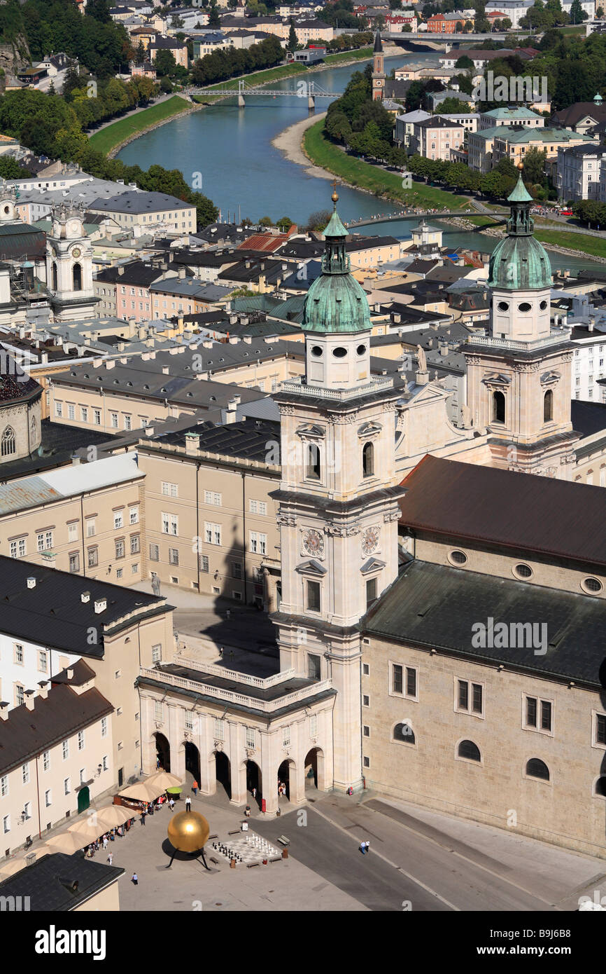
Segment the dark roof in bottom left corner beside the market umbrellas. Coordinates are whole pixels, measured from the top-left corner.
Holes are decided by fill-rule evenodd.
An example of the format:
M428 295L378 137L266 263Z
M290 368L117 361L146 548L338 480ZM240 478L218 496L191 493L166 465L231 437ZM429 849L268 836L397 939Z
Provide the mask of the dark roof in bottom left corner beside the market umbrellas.
M27 896L33 913L76 910L95 893L118 880L125 870L80 855L55 852L37 859L0 882L0 896ZM78 883L74 889L74 883Z

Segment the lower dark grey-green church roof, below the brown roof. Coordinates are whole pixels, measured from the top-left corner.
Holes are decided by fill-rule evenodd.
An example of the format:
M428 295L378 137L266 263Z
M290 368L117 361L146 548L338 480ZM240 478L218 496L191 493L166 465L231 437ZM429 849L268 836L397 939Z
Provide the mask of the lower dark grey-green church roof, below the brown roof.
M523 478L532 479L532 475ZM545 623L547 652L535 655L533 647L513 645L517 639L506 640L508 648L474 647L472 639L478 631L474 624L487 626L489 618L495 625ZM587 595L414 561L362 620L361 628L374 636L448 650L477 662L509 664L546 676L606 685L606 613L600 599ZM537 641L542 631L537 630Z

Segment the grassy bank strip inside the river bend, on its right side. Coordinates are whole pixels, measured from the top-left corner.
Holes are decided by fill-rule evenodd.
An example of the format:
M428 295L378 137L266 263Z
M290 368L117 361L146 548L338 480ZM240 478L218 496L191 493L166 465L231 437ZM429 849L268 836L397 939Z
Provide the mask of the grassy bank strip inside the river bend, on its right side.
M363 163L360 159L348 156L338 145L324 137L324 119L320 119L305 131L303 151L315 166L328 169L349 186L367 190L376 197L396 200L408 205L422 205L429 209L434 206L446 206L448 209L471 208L467 197L455 196L444 189L427 186L422 182L413 183L411 190L403 189L402 176L398 172L386 172L384 169L378 169L369 163Z

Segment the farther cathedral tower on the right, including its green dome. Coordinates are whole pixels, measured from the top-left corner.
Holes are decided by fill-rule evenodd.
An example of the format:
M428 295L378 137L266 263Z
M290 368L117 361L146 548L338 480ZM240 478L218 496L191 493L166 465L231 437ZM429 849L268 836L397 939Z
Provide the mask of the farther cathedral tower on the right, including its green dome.
M490 258L490 327L464 346L474 426L486 428L492 465L570 479L572 344L552 329L552 268L533 236L531 196L522 181L509 197L507 237Z

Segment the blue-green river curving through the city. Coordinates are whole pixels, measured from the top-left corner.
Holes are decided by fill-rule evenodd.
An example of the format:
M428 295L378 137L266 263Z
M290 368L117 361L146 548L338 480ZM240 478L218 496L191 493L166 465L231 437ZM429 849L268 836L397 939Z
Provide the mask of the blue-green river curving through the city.
M407 61L435 63L438 53L411 54L385 59L386 71ZM309 75L325 91L341 93L354 71L364 70L367 61L346 67L328 67ZM271 88L297 91L302 75L287 78ZM328 98L317 98L318 110L328 107ZM307 99L298 97L270 98L264 95L246 98L246 107L238 108L235 99L175 119L130 142L119 153L127 165L148 169L157 164L166 169L181 169L190 185L219 206L223 219L249 217L256 222L262 216L277 220L288 216L304 224L311 212L330 206L330 187L326 179L308 175L301 166L285 159L271 145L271 140L288 126L306 118ZM201 177L201 180L200 180ZM200 184L201 182L201 184ZM368 193L339 187L339 215L351 220L374 213L397 212L401 206L377 200ZM361 234L389 234L410 237L410 226L416 218L361 227ZM477 233L463 233L442 224L444 244L491 251L497 241ZM569 235L562 234L562 237ZM568 243L566 241L566 243ZM572 242L571 242L572 245ZM571 257L550 251L553 270L576 270L591 264L587 258ZM598 265L599 266L599 265Z

